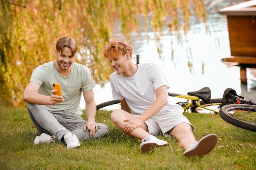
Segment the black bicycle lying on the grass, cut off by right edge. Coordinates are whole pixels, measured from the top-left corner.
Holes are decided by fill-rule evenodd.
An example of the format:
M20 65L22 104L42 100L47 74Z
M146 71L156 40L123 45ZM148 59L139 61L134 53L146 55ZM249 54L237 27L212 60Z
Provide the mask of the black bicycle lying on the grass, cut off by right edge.
M239 128L256 132L256 102L252 100L245 100L234 89L227 88L222 97L220 117Z

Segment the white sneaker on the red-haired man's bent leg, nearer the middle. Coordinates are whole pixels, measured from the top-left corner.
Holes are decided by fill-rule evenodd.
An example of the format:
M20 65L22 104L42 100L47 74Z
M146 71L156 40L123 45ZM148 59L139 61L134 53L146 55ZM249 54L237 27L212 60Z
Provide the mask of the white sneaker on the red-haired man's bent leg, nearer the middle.
M141 141L142 141L142 143L139 145L139 148L143 152L147 152L148 150L157 148L159 146L169 145L168 142L162 141L153 135L149 135L149 136L145 137L144 139L142 139Z

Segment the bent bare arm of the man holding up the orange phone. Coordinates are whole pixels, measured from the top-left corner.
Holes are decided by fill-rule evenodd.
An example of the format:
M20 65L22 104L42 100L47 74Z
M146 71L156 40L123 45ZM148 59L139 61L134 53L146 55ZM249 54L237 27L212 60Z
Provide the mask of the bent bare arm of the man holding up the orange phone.
M45 96L38 93L39 88L40 85L38 83L29 82L23 92L22 100L38 105L55 105L64 101L62 96L54 95L54 92L57 92L57 90L52 90L51 96Z

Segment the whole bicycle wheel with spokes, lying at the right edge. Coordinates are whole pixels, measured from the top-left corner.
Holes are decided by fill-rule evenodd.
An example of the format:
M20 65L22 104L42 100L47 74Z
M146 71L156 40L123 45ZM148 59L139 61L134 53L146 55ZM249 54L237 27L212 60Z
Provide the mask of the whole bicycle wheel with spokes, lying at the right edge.
M256 132L256 105L224 105L220 108L220 117L239 128Z

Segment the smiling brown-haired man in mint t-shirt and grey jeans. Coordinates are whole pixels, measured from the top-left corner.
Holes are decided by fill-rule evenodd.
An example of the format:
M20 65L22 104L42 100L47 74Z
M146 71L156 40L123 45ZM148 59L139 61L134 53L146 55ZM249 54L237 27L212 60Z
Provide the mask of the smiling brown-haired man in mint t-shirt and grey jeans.
M95 122L95 87L88 67L73 63L78 45L74 38L62 37L56 43L56 60L36 67L22 99L27 101L31 121L40 136L34 144L57 139L67 148L80 146L79 140L106 136L108 127ZM61 85L62 96L54 95L53 83ZM85 99L87 121L81 118L81 95ZM52 135L52 136L50 136Z

